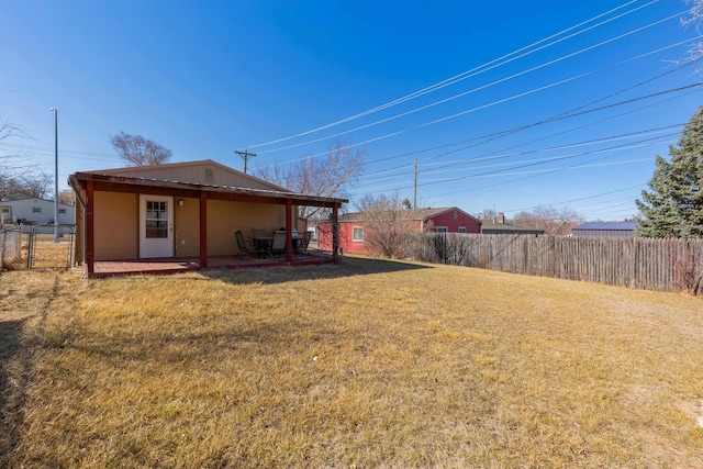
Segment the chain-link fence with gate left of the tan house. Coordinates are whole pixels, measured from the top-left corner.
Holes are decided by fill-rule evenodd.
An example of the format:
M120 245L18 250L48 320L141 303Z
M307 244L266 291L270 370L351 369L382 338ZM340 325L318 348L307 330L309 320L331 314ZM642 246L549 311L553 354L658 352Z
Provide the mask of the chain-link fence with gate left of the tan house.
M0 230L0 269L74 266L75 225L12 226Z

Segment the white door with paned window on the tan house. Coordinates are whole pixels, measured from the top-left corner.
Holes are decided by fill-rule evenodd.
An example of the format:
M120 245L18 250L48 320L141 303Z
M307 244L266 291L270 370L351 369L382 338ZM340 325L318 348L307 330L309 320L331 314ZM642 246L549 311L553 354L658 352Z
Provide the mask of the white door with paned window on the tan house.
M174 198L140 196L140 257L174 257Z

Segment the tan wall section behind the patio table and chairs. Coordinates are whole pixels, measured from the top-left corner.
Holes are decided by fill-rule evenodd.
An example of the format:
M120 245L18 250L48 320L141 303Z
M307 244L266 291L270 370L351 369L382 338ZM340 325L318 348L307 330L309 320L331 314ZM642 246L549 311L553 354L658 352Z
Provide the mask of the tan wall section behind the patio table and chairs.
M286 206L267 203L208 201L208 255L225 256L237 253L234 232L241 230L244 238L252 230L261 228L271 235L286 226Z

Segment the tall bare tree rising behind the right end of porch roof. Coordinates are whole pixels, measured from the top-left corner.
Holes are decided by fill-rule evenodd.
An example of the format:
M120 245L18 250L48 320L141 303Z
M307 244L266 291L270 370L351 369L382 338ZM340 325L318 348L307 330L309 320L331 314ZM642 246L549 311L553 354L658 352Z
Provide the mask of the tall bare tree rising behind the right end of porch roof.
M339 197L356 179L366 150L353 150L344 141L335 141L323 156L308 156L290 164L257 168L254 175L297 193L317 197ZM311 217L319 206L299 206L298 215Z

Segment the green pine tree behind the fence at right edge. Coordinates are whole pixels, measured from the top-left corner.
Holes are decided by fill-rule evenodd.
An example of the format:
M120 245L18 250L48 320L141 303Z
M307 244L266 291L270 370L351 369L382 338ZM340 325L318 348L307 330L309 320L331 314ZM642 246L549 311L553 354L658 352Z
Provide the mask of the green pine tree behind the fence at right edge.
M657 155L650 190L641 191L637 234L643 237L703 237L703 107L683 129L671 161Z

